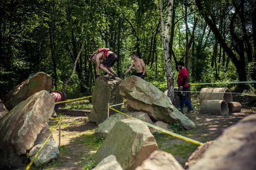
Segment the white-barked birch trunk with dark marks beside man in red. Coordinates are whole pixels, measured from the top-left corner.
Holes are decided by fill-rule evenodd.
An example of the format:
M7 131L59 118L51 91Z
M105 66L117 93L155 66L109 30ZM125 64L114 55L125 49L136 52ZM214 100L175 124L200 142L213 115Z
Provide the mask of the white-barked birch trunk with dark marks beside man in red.
M169 53L169 29L170 29L170 23L171 23L171 17L172 17L173 0L168 0L167 16L165 17L165 19L163 17L161 0L158 0L158 9L159 9L160 22L161 22L163 55L164 55L165 66L166 66L166 78L167 78L167 87L168 87L167 95L171 99L172 104L175 105L174 74L171 68L171 59L170 59L170 53Z

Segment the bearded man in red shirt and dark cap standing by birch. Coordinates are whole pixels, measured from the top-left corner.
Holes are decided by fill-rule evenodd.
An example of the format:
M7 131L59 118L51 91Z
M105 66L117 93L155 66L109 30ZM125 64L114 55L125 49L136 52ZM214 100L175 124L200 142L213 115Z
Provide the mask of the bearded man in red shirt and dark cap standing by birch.
M188 113L192 113L194 110L191 106L191 103L189 102L187 98L187 91L188 91L188 71L185 68L185 64L183 61L178 62L178 68L180 69L177 83L179 87L179 106L180 106L180 112L183 113L183 105L184 102L188 105L190 111Z

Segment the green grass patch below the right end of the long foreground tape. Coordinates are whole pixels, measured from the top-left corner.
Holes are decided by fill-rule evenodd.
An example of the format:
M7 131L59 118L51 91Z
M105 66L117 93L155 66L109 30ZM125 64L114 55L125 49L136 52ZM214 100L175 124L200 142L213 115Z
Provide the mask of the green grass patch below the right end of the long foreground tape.
M173 156L180 156L187 158L190 154L196 150L199 145L186 143L186 144L173 144L172 146L162 149L162 151L171 153Z

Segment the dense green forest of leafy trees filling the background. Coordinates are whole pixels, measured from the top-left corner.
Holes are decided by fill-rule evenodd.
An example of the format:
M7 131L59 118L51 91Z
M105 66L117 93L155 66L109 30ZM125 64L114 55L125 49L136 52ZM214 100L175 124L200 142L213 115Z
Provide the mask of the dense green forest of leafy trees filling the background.
M67 96L91 95L97 69L89 56L102 47L118 56L113 69L119 76L135 52L146 64L145 80L157 87L168 84L168 64L176 85L180 60L192 83L256 80L256 0L173 0L171 8L170 2L1 0L0 99L36 72L49 74L52 90L61 91L78 57L76 72L65 86ZM128 75L135 72L133 68ZM256 89L255 83L191 89L218 86L233 92Z

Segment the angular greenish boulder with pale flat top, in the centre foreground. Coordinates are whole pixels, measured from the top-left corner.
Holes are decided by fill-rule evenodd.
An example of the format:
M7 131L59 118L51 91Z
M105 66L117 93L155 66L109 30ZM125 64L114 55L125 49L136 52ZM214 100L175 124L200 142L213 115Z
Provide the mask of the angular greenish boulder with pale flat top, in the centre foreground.
M134 170L150 153L158 150L149 127L137 119L123 119L115 123L94 156L98 164L105 157L115 155L124 170Z

